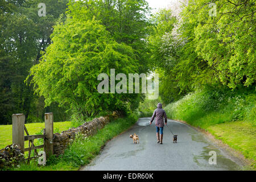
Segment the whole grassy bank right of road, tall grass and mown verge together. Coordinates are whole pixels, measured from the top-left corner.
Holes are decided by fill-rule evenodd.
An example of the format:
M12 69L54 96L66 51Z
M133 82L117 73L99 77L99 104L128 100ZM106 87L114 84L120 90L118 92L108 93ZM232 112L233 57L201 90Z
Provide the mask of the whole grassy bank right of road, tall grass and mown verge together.
M164 109L168 118L186 121L221 139L253 160L256 168L256 95L254 90L199 90Z

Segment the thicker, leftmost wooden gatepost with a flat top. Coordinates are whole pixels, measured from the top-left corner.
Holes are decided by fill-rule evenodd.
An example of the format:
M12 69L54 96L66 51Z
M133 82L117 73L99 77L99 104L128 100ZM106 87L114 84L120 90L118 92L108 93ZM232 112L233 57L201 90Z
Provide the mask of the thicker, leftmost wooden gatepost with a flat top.
M13 114L13 143L20 146L20 150L24 154L24 114Z

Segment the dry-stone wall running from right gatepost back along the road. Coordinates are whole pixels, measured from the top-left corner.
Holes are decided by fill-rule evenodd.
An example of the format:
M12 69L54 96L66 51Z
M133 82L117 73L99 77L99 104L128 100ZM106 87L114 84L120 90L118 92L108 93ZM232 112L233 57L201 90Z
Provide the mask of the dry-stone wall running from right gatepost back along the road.
M83 125L72 128L67 131L54 134L53 138L53 154L59 156L63 154L64 150L67 148L71 139L76 137L77 133L84 134L85 137L92 136L97 133L98 130L102 129L106 124L110 122L110 118L116 119L119 117L119 113L114 111L113 114L106 117L95 118L90 122L85 122Z

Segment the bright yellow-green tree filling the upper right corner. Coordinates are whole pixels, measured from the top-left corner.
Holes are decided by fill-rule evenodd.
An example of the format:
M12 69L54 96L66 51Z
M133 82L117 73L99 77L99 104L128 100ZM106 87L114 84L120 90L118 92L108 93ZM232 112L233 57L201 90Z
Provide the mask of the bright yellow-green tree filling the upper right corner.
M255 83L255 2L214 1L216 16L210 16L210 2L189 1L183 12L183 30L194 30L197 56L207 61L212 81L229 88ZM191 39L191 35L184 36ZM205 77L208 78L208 77Z

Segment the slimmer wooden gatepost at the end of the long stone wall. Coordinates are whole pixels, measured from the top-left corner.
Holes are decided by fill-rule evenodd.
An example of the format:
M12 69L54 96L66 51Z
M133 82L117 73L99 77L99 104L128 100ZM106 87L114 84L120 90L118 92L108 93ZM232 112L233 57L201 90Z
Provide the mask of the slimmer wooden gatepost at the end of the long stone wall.
M46 126L46 144L44 145L44 151L48 158L53 155L53 114L45 113L44 122Z

